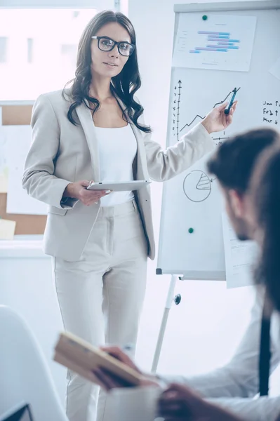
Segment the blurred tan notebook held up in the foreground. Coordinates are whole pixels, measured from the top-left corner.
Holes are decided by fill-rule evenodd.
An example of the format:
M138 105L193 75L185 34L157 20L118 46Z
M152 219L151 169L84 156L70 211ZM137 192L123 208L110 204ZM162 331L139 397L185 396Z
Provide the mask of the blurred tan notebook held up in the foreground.
M98 367L105 368L132 386L140 385L142 380L138 371L69 332L60 334L54 360L92 382L96 382L93 370Z

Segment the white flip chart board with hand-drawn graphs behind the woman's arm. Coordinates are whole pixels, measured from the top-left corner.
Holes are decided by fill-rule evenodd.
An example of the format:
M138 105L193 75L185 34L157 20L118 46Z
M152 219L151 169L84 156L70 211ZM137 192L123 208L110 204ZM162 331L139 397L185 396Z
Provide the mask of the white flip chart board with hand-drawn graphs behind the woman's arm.
M178 64L175 60L178 42L181 42L181 50L185 48L178 30L183 34L183 30L189 29L182 27L189 17L197 21L197 17L201 19L203 15L208 19L228 15L236 17L234 20L238 22L238 17L247 16L255 17L256 25L248 71L220 70L215 66L213 69L173 66L167 146L175 145L235 87L241 89L236 95L239 104L234 123L226 131L213 133L217 147L219 142L241 131L260 126L277 129L278 123L280 126L279 8L279 0L175 6L173 64ZM244 25L244 20L242 22ZM206 171L209 156L164 183L157 274L225 280L224 204L217 180ZM194 231L189 233L189 228Z

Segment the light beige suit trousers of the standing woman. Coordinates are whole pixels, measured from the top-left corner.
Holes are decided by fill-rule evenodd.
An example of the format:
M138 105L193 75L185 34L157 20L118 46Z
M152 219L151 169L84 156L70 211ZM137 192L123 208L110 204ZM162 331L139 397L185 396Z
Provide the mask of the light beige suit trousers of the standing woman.
M135 345L145 297L147 240L134 200L100 208L79 261L53 258L53 271L65 330L97 346ZM105 393L100 391L98 403L98 391L68 370L70 421L112 421L106 419Z

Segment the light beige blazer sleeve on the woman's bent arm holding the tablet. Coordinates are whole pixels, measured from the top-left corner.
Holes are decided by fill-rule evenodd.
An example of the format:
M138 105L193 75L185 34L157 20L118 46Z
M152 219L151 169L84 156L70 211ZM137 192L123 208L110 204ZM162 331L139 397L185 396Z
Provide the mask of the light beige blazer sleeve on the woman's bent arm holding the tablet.
M68 180L57 178L55 159L60 145L58 119L46 95L40 95L32 110L32 145L25 161L22 187L27 193L57 208L72 208L75 199L62 202Z

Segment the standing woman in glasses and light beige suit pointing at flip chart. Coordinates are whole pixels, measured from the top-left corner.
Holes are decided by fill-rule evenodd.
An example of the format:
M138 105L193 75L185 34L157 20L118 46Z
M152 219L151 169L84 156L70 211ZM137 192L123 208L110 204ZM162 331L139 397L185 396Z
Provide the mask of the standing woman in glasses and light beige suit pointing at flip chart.
M90 180L168 180L213 149L209 133L224 130L235 108L213 109L164 151L142 119L138 88L133 25L105 11L84 29L72 86L40 95L32 113L22 184L49 205L44 251L65 329L93 345L135 344L154 234L149 187L107 194L86 190ZM97 390L67 378L69 420L94 420Z

